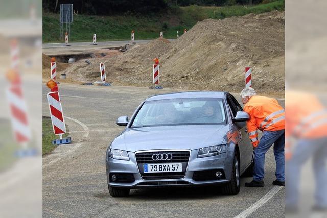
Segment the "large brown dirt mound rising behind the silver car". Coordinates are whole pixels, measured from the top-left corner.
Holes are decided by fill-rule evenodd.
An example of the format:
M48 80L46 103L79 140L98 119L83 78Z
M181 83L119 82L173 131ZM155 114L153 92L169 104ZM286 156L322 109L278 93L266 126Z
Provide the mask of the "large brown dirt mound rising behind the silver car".
M123 55L78 62L66 70L78 81L100 80L99 62L115 85L149 86L153 58L160 60L160 85L196 90L239 92L245 66L252 67L252 86L259 93L284 92L285 14L273 11L198 22L169 43L156 39L134 45Z

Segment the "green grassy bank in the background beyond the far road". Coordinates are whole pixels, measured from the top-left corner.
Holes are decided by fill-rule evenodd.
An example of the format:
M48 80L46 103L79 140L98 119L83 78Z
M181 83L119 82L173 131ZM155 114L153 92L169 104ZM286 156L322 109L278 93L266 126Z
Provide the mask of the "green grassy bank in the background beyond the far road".
M252 6L172 7L167 13L148 16L116 15L86 16L74 15L71 25L70 42L92 41L94 33L97 41L130 40L131 30L135 30L135 40L154 39L160 31L165 38L177 38L176 31L182 35L184 29L192 28L203 19L223 19L231 16L243 16L249 13L263 13L272 10L284 11L284 0ZM59 38L59 14L43 13L43 42L64 42Z

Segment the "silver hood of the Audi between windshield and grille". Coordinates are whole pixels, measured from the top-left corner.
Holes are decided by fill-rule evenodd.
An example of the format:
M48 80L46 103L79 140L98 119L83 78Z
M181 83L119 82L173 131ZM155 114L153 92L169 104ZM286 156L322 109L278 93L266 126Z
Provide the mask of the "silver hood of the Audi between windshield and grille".
M130 152L153 149L199 149L221 144L228 125L188 125L126 129L111 143L112 149Z

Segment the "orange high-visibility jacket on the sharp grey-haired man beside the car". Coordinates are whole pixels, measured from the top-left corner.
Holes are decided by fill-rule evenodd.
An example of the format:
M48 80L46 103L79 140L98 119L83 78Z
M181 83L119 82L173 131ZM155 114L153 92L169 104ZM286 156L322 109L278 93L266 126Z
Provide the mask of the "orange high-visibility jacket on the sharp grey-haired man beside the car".
M244 111L250 115L246 125L253 147L259 143L258 129L262 132L285 129L285 111L275 99L254 95L244 105Z

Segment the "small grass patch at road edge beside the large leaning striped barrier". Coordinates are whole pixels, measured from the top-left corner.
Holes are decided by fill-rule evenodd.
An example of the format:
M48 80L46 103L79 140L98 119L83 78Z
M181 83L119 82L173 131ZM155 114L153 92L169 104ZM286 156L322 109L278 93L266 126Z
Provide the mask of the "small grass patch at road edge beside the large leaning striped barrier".
M42 154L49 154L57 146L52 144L52 141L59 138L59 136L53 133L51 118L49 116L42 116ZM66 132L68 132L68 127L66 125ZM67 137L69 134L63 134L63 138Z

